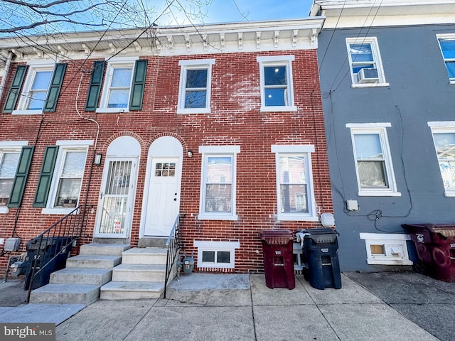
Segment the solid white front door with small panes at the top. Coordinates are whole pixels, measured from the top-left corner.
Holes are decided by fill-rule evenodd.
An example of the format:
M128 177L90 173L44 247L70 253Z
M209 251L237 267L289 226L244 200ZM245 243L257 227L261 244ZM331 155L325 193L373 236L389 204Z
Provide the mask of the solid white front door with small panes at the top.
M178 158L154 158L146 206L145 237L168 237L178 215Z

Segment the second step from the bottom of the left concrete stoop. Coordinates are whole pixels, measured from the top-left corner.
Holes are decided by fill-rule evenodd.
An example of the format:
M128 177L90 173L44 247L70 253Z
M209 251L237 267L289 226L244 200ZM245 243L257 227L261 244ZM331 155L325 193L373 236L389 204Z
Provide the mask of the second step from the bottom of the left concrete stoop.
M50 274L50 283L95 284L102 286L112 278L111 269L65 268Z

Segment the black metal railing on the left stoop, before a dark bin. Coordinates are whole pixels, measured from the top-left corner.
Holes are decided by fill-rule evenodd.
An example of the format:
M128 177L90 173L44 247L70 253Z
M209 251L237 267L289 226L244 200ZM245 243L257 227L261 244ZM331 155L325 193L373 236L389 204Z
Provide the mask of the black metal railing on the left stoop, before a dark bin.
M38 237L27 242L27 251L34 250L33 259L28 259L30 265L25 286L25 289L28 289L27 302L30 301L33 280L38 274L41 274L59 255L68 254L68 249L70 251L73 243L82 237L87 223L85 220L87 208L87 205L76 207Z

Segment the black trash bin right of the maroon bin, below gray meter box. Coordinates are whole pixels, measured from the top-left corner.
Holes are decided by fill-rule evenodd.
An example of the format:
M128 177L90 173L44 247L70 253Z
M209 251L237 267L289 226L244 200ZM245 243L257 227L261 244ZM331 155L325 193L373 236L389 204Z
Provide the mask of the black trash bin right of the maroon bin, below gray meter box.
M341 288L338 232L331 228L304 229L305 279L313 288Z

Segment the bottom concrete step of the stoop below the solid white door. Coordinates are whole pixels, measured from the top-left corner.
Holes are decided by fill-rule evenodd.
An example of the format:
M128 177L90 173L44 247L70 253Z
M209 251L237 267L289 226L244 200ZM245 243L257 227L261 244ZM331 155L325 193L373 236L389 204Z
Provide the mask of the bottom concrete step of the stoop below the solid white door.
M102 300L139 300L160 298L164 292L164 282L112 281L101 287Z

